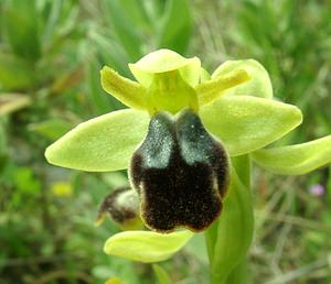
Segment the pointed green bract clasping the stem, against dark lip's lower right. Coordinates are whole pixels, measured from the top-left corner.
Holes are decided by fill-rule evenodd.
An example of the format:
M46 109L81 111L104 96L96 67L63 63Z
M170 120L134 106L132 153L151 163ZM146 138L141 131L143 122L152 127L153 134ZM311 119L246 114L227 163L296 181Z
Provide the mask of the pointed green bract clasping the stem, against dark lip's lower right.
M253 238L254 217L250 192L233 170L229 194L217 221L218 233L212 258L212 284L223 284L246 256Z

